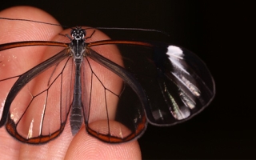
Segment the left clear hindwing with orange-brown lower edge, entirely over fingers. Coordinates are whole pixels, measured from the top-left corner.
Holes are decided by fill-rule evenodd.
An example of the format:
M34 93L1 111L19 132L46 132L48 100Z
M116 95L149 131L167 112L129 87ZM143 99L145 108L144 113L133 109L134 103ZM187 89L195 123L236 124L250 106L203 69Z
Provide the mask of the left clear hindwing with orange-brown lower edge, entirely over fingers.
M24 47L19 50L22 48ZM49 52L52 51L56 53L57 50L50 48ZM66 52L62 48L59 57L65 58ZM45 53L47 55L48 51ZM5 107L10 106L6 129L22 142L42 143L56 137L63 130L70 110L73 96L70 94L73 92L73 59L67 57L48 67L44 66L44 59L42 58L38 66L19 76L12 89L9 88L9 97L6 98ZM34 76L36 72L41 73ZM1 82L10 80L12 79ZM14 97L11 102L10 97ZM54 134L55 132L58 134Z

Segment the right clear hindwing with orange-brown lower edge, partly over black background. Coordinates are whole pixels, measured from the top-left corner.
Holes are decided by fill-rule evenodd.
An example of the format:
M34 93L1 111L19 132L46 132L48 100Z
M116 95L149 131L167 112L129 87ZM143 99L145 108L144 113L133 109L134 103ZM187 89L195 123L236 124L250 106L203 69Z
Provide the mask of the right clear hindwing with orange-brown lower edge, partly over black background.
M88 48L86 55L82 66L86 130L104 142L138 138L147 124L142 87L122 67L116 46Z

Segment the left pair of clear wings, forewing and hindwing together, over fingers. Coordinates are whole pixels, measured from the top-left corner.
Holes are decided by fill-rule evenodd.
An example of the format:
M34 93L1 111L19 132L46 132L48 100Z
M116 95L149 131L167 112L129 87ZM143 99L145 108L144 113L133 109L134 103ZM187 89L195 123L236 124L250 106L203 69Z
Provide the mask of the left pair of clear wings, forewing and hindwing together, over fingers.
M73 96L74 72L67 49L43 48L44 56L62 51L53 57L48 54L31 60L30 55L37 54L33 47L1 52L1 126L6 124L6 130L19 141L38 144L56 138L64 129ZM26 62L20 66L22 60Z

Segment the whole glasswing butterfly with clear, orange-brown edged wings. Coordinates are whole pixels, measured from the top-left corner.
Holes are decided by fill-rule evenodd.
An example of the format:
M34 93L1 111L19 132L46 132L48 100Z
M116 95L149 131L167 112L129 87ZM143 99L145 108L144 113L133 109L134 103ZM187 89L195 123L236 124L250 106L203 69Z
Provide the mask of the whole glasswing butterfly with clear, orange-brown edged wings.
M82 125L103 142L127 142L139 138L147 122L184 122L214 98L210 71L189 50L126 39L90 42L94 34L95 28L76 27L62 35L70 42L0 44L0 127L33 144L50 142L65 126L74 135ZM43 46L49 57L20 66L19 58L30 61L35 46Z

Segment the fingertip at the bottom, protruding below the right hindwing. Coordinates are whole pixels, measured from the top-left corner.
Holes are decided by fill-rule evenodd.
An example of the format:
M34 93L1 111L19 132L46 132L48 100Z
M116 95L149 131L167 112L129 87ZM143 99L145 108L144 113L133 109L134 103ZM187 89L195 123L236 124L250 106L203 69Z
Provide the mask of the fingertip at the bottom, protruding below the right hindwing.
M66 159L141 159L137 141L124 143L101 142L80 130L70 143Z

